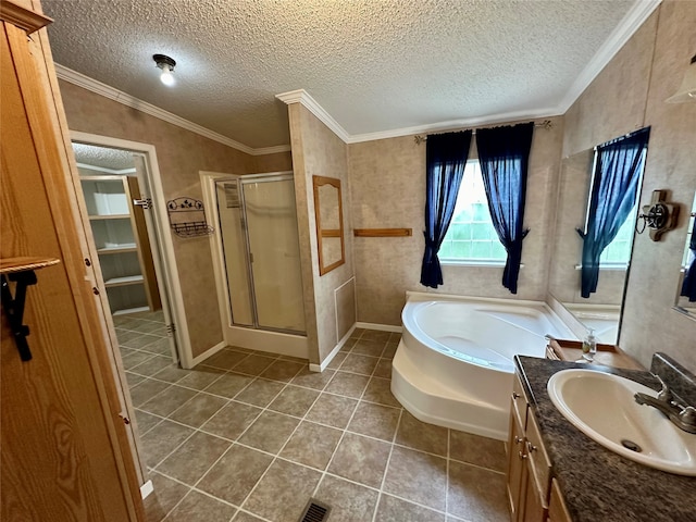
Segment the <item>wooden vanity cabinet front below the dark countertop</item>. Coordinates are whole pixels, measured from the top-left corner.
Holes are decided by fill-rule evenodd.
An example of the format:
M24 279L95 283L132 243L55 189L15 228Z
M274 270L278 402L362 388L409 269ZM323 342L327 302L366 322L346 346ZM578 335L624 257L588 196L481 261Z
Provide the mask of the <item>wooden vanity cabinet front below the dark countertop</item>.
M549 508L551 463L515 374L510 408L507 492L512 522L544 522Z

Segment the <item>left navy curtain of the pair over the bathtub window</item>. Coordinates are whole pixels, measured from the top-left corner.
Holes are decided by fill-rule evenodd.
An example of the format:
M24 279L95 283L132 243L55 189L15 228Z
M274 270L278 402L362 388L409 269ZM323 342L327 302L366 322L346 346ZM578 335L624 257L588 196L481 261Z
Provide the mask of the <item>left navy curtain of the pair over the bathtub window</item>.
M464 174L471 130L433 134L425 146L425 252L421 285L437 288L443 271L437 252L455 213L457 194Z

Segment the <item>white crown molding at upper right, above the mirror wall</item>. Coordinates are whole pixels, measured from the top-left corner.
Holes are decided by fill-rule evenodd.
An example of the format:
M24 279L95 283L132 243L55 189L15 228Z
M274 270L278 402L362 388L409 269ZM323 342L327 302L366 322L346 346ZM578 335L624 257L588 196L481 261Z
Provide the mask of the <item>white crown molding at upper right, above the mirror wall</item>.
M621 23L611 32L589 63L575 78L573 85L568 89L568 92L558 104L559 113L564 114L571 108L660 3L662 3L662 0L635 1Z

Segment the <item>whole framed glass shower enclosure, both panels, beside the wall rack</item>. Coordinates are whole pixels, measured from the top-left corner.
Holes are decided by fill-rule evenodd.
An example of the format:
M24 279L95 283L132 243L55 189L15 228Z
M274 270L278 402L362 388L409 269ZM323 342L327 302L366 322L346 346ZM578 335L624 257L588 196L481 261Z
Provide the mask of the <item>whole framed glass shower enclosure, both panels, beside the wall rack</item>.
M217 177L214 187L232 326L304 334L293 174Z

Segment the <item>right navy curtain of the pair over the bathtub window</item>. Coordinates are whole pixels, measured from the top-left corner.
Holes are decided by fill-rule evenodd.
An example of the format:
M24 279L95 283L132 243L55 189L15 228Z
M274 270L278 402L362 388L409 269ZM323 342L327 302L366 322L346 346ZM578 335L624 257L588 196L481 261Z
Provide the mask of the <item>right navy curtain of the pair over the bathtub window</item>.
M493 226L508 252L502 286L512 294L518 293L522 240L530 232L523 228L523 221L533 134L534 123L476 130L478 163Z

